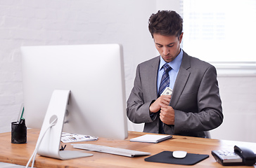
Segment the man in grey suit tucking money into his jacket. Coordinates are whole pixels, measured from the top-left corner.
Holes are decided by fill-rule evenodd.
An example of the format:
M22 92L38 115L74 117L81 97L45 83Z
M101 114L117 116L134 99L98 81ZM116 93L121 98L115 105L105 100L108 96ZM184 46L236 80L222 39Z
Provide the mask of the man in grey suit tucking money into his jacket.
M205 131L223 121L217 72L180 48L182 25L174 11L158 11L149 18L160 56L137 66L127 116L133 123L145 123L143 132L205 137ZM165 87L172 95L160 95Z

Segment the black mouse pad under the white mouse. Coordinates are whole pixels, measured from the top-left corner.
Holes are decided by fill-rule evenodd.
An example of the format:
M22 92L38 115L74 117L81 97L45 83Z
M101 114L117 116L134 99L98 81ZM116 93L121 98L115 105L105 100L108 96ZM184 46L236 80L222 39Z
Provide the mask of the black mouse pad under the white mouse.
M209 158L209 155L187 153L185 158L177 159L172 156L171 151L162 151L161 153L145 158L145 161L170 163L175 165L195 165L206 158Z

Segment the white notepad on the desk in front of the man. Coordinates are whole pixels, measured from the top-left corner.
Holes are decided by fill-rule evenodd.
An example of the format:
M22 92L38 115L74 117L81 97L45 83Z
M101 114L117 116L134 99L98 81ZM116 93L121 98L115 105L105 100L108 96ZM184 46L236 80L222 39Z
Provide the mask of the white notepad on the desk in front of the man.
M140 137L130 139L130 141L158 143L160 141L165 141L166 139L171 139L171 138L172 138L172 135L145 134Z

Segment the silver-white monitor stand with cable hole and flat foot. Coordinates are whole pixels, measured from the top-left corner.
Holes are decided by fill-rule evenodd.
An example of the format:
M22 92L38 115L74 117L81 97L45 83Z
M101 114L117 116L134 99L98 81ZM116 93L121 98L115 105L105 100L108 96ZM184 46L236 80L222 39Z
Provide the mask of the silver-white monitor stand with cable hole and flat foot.
M41 132L37 140L37 146L39 146L37 154L60 160L82 158L92 155L79 151L60 151L60 138L69 97L70 90L53 91L44 123L41 126ZM56 120L54 122L56 124L51 126L54 120Z

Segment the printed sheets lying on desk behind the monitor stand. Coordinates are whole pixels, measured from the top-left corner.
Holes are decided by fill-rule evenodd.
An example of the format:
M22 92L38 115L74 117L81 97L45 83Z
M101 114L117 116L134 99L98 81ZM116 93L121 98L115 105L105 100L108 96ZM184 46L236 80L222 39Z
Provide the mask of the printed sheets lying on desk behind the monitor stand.
M82 134L70 134L63 132L61 134L61 139L63 143L69 143L69 142L78 142L78 141L96 141L98 140L98 137L92 137L90 135L82 135Z

